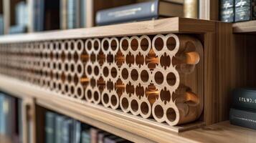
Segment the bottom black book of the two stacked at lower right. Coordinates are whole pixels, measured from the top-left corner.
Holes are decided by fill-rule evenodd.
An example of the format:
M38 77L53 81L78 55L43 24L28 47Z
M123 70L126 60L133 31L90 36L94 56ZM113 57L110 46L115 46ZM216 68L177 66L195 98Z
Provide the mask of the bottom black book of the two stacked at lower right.
M232 108L229 112L229 121L234 125L256 129L256 112Z

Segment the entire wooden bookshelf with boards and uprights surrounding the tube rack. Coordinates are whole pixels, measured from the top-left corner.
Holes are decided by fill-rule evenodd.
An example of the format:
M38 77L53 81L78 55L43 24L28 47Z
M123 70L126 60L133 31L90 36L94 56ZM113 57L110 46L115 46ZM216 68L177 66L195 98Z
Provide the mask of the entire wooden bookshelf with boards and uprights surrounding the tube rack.
M29 13L32 11L32 2L32 0L27 0ZM111 1L111 5L120 6L134 2L136 1L122 1L122 4L115 3L115 5ZM22 109L27 115L23 123L24 142L29 140L42 142L39 139L43 128L40 123L44 120L40 114L41 108L65 114L131 142L254 142L255 132L252 129L230 125L226 120L229 115L230 90L234 87L255 86L256 67L250 64L250 61L255 61L255 56L253 56L255 53L253 49L255 21L236 24L210 21L218 19L218 2L207 0L199 1L199 3L199 17L207 20L174 17L91 27L95 26L93 23L95 11L108 8L108 6L102 1L88 0L87 6L90 12L87 13L87 18L90 23L88 27L91 28L34 32L33 19L29 16L28 34L1 36L1 44L12 46L26 43L37 44L42 41L102 40L106 37L121 39L124 36L153 37L157 34L177 34L198 39L204 49L203 74L200 74L202 77L196 77L203 80L203 84L198 86L202 87L204 93L203 112L194 122L176 126L156 122L153 117L143 119L141 116L124 113L121 109L110 109L110 107L103 107L102 104L88 103L69 97L67 94L55 92L53 89L40 87L33 82L1 74L1 91L23 99ZM0 6L3 7L2 11L7 19L10 11L5 6L11 4L7 0L3 0L3 4L4 6ZM11 20L5 21L5 29L8 33ZM27 124L31 125L29 129ZM6 142L9 142L8 138L0 136L0 141L2 139L7 139Z

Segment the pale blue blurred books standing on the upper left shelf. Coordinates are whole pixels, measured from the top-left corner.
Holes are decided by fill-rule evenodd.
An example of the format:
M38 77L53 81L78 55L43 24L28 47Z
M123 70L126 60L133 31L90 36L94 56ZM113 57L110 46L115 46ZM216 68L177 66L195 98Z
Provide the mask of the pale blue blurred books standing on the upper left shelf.
M19 34L27 31L28 9L25 1L20 1L16 4L15 21L16 24L10 27L9 34Z

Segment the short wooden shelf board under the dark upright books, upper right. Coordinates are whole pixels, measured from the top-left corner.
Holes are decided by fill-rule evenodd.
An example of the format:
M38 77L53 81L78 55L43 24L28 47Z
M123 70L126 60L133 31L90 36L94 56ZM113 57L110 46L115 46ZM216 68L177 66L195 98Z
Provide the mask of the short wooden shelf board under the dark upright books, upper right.
M238 22L232 25L234 33L256 34L256 20Z

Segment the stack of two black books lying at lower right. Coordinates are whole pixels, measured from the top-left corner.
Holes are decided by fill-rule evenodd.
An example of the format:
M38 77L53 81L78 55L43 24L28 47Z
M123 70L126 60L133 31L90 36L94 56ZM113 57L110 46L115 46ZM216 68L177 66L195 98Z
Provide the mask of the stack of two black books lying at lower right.
M234 89L232 98L230 123L256 129L256 89Z

